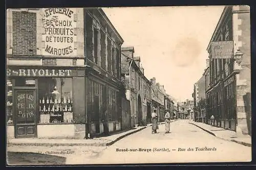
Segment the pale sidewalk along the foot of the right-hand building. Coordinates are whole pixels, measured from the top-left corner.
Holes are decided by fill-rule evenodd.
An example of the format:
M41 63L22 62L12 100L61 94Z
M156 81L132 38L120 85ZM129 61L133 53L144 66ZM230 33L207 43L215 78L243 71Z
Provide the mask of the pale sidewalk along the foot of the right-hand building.
M214 127L200 122L191 121L189 124L195 125L202 130L208 132L209 134L219 137L221 139L237 142L239 144L251 147L251 137L249 135L237 136L236 132L234 131Z

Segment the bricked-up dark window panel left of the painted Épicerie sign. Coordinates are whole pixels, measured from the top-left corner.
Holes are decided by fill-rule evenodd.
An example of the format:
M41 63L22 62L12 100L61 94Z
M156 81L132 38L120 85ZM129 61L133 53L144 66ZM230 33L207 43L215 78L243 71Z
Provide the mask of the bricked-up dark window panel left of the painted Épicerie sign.
M13 55L36 55L36 13L12 12Z

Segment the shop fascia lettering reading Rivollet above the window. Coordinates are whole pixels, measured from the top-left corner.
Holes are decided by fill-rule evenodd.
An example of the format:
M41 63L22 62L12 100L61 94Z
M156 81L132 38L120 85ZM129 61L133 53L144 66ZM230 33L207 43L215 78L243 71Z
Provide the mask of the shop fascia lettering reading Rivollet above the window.
M71 69L7 69L7 76L72 77Z

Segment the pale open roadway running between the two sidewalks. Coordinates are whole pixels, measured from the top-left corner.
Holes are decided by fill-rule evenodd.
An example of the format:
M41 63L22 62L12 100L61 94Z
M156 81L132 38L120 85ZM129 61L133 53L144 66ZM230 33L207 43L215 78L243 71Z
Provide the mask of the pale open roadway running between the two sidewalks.
M234 162L251 160L251 147L212 136L189 124L189 120L178 120L171 123L171 133L169 134L164 133L164 128L164 124L159 125L157 134L151 134L151 127L146 128L117 141L110 147L47 148L13 146L9 147L8 151L37 153L40 151L69 151L69 154L56 154L55 156L61 156L59 159L49 157L53 161L52 163L48 161L47 164L54 164L54 160L58 164ZM66 157L65 161L63 161L63 157ZM13 156L9 163L26 163L24 160L15 161L14 159ZM58 160L62 160L62 162ZM33 163L30 160L26 164ZM37 164L40 164L40 160L37 160Z

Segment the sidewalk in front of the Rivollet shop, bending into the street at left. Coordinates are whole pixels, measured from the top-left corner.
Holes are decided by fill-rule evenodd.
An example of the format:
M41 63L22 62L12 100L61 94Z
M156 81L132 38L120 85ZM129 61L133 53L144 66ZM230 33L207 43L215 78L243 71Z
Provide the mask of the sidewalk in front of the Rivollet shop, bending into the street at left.
M125 136L131 135L148 126L134 128L122 133L113 134L94 139L38 139L38 138L13 138L8 140L8 147L12 145L27 145L27 146L106 146L115 143Z

